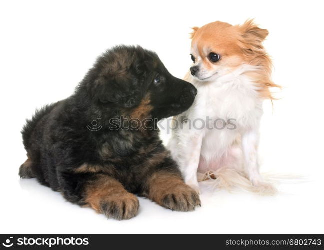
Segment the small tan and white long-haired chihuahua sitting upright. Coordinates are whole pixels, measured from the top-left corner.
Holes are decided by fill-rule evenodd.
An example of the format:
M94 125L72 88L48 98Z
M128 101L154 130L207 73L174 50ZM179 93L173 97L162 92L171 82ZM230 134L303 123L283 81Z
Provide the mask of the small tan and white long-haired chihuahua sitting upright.
M262 179L257 159L262 102L273 99L270 87L278 87L271 81L271 60L262 45L267 35L251 20L236 26L216 21L193 28L194 65L185 80L196 86L198 95L175 120L202 119L205 126L196 129L184 123L173 132L168 148L185 182L196 190L198 170L199 180L214 179L216 187L275 191ZM222 129L215 129L217 119L225 122L216 126Z

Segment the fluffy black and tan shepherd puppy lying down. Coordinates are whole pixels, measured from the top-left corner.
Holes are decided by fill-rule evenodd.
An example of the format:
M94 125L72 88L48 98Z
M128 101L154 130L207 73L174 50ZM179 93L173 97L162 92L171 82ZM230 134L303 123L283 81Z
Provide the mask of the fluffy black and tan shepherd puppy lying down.
M27 121L28 159L19 175L115 219L137 214L134 193L172 210L194 210L199 196L184 184L156 122L188 109L196 93L154 52L115 47L97 59L73 95Z

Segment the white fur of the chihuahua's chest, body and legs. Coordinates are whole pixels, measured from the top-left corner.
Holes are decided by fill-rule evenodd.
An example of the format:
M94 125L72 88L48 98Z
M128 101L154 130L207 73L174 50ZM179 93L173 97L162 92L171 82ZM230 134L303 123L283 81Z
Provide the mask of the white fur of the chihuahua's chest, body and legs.
M193 105L185 113L174 117L179 123L181 116L191 120L234 119L236 129L227 124L224 129L189 127L184 122L173 131L168 149L180 166L185 182L199 191L199 180L210 182L216 188L241 187L258 193L274 193L275 188L263 180L259 173L257 147L259 124L263 113L262 99L257 85L245 73L258 70L251 65L241 65L235 71L210 81L200 81L187 74L185 80L198 89ZM213 122L211 122L212 124ZM209 126L210 128L210 126Z

